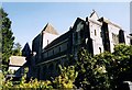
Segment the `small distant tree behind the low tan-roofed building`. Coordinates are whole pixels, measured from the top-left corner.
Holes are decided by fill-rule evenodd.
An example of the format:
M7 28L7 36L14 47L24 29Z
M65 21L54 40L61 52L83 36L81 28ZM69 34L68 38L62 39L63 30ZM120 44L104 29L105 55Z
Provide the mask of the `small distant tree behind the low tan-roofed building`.
M20 43L15 43L13 45L12 55L21 56L22 55L21 48L22 48L21 44Z

